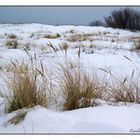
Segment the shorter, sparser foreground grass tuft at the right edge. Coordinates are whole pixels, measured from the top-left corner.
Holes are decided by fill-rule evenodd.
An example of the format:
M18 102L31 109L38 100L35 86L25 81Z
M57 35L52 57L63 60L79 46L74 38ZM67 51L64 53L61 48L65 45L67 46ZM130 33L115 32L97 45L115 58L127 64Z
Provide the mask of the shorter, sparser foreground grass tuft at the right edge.
M127 79L116 81L110 86L112 99L115 102L135 102L140 103L140 84L139 80Z

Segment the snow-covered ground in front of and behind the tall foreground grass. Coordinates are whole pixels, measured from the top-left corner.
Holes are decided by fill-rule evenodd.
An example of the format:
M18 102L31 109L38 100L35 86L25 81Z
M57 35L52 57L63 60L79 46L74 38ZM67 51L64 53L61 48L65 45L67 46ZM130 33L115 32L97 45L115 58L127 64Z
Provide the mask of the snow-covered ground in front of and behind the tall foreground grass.
M10 35L16 35L16 38ZM49 35L49 37L48 37ZM51 37L50 37L51 36ZM16 49L6 46L7 41L17 40ZM110 70L116 76L139 73L140 53L132 51L140 41L140 32L88 26L51 26L42 24L0 25L0 66L11 60L29 61L28 53L34 55L47 67L53 69L54 60L66 58L80 63L90 74ZM48 44L57 49L57 55ZM59 45L68 44L67 56ZM128 59L127 59L128 58ZM3 74L3 71L0 71ZM1 76L2 77L2 76ZM3 81L0 78L1 90ZM25 119L17 125L7 124L18 111L4 113L4 99L0 97L0 133L132 133L140 129L140 105L135 103L113 104L99 100L95 107L61 111L50 105L28 109ZM20 110L19 110L20 111ZM140 131L139 131L140 133Z

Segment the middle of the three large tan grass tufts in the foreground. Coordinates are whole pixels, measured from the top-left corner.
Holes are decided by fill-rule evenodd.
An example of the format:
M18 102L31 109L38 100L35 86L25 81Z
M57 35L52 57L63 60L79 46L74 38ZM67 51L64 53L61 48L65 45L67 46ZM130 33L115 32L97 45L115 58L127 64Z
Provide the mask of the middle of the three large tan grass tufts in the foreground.
M64 97L64 110L73 110L94 105L94 100L101 97L103 87L98 77L91 78L81 68L71 68L71 63L60 66L61 95Z

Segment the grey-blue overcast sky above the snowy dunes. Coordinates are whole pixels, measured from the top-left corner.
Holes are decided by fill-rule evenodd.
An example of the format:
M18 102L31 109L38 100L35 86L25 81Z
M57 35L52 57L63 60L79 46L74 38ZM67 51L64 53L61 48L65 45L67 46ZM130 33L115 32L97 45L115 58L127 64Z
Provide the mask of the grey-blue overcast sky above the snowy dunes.
M123 8L123 7L121 7ZM140 11L140 7L132 7ZM120 7L0 7L0 23L88 25Z

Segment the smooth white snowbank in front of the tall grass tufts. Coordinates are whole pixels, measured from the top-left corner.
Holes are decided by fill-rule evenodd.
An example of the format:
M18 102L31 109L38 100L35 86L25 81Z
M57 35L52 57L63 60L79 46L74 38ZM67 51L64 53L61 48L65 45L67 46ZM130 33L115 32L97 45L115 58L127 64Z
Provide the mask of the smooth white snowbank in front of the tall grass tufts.
M54 112L36 106L18 125L1 127L1 133L130 133L140 126L140 106L101 105ZM9 115L10 116L10 115ZM7 118L9 117L7 116ZM0 122L5 117L1 117Z

